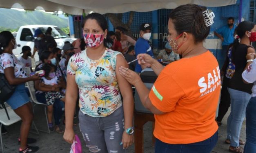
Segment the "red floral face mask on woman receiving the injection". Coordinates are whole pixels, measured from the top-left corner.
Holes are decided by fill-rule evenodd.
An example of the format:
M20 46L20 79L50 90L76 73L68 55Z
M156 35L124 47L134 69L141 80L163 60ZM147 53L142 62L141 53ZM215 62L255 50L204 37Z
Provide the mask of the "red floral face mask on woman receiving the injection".
M100 46L100 44L103 42L103 39L104 39L103 35L104 33L102 34L83 33L86 46L91 48Z

